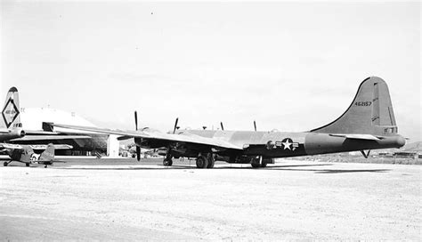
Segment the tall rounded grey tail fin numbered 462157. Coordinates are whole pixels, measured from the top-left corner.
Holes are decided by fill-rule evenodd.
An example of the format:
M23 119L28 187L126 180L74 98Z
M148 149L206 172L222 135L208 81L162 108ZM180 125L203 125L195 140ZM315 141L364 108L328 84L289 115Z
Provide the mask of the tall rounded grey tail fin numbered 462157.
M396 134L397 125L385 81L379 77L368 77L363 80L345 113L328 125L313 129L311 132Z

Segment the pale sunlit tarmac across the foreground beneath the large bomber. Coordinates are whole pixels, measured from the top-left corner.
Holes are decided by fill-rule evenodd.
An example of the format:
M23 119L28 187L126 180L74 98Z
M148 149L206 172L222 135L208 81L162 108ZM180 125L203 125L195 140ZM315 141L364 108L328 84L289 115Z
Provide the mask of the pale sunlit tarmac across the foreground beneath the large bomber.
M59 160L0 167L0 239L422 238L420 165Z

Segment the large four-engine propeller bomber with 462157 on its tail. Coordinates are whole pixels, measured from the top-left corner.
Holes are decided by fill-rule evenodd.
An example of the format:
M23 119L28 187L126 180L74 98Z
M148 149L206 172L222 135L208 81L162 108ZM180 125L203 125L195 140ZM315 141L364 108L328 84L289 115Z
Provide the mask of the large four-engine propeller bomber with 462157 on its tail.
M353 102L345 113L328 125L301 133L177 130L160 133L150 128L120 131L75 125L53 126L98 133L122 135L121 140L134 138L140 148L166 147L164 165L173 165L173 157L196 157L198 168L212 168L215 155L229 163L250 163L265 167L274 157L297 157L365 149L400 148L405 139L398 134L390 93L385 81L368 77L358 88ZM176 132L177 130L177 132Z

